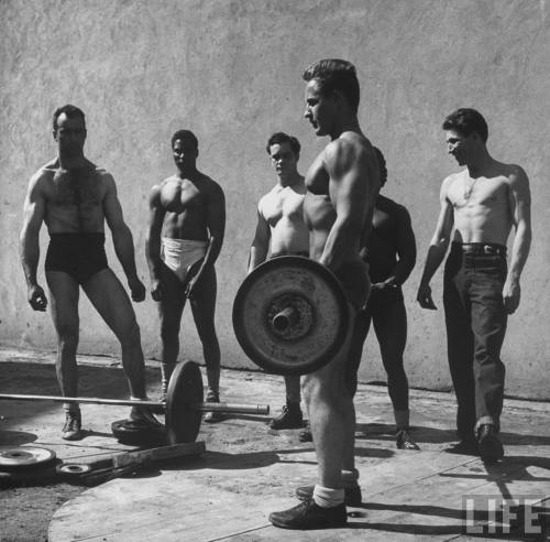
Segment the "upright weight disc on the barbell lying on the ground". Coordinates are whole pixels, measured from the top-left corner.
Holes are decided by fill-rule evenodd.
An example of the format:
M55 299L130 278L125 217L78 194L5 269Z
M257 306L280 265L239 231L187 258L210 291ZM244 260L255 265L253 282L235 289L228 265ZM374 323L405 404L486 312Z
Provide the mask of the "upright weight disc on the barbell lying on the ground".
M195 361L178 364L166 393L166 431L169 444L195 442L202 413L193 405L202 402L202 377Z

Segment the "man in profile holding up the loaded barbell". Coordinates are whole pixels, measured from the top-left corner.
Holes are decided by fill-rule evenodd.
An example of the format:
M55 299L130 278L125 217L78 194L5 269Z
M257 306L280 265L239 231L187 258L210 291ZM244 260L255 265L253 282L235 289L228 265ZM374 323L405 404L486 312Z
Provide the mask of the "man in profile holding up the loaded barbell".
M340 59L319 61L306 69L304 79L305 117L317 136L331 139L306 175L304 215L309 253L340 280L351 322L345 344L334 359L304 377L318 483L297 489L298 497L305 499L298 506L270 516L274 525L286 529L345 525L344 498L345 502L361 502L354 467L355 411L344 375L356 340L352 333L355 315L370 292L367 269L359 251L371 228L380 188L376 156L358 121L360 93L354 66Z

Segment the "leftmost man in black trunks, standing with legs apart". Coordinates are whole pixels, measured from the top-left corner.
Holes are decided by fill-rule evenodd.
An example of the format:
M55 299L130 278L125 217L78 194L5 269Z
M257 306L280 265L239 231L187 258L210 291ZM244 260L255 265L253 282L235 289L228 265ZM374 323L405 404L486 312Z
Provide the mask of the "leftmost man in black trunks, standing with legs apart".
M132 399L146 399L145 366L140 328L124 288L107 265L103 249L105 221L111 229L117 257L135 302L145 299L138 278L132 234L124 223L112 175L84 155L86 122L75 106L54 112L53 134L57 158L31 178L24 204L20 237L21 262L26 279L29 303L45 311L44 290L36 280L42 223L50 234L45 272L52 300L52 318L57 334L56 371L62 393L78 395L79 286L122 346L122 367ZM64 403L66 423L62 437L81 438L81 416L77 403ZM132 408L130 418L157 425L147 409Z

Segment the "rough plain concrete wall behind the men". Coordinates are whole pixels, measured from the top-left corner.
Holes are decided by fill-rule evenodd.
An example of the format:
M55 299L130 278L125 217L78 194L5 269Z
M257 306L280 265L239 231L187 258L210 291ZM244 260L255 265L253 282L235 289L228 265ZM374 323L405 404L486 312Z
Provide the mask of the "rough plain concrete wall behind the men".
M296 134L305 172L326 141L301 118L301 71L320 57L342 57L358 67L362 126L387 158L385 193L408 206L418 239L419 264L405 286L410 383L450 387L441 303L426 312L414 300L440 183L457 170L440 124L454 108L472 106L487 118L493 155L521 164L531 180L535 240L504 359L510 394L549 398L549 10L546 0L3 0L0 342L55 346L50 318L25 301L18 232L28 180L55 152L51 115L73 102L87 113L87 155L118 182L143 280L148 188L174 170L170 134L182 127L197 133L199 166L228 202L218 265L223 364L251 367L230 315L255 205L274 182L264 142L276 130ZM44 253L45 231L42 238ZM120 273L110 240L108 249ZM147 300L136 312L145 354L158 356L155 305ZM187 312L183 336L185 355L201 359ZM85 299L81 350L119 355ZM365 350L362 379L384 380L373 337Z

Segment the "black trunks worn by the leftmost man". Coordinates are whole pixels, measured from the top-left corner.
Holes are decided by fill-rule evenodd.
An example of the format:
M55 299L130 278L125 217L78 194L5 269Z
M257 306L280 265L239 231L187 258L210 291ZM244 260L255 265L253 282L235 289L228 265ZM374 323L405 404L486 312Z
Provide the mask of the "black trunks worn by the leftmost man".
M62 271L86 284L97 272L107 269L105 234L51 234L46 271Z

